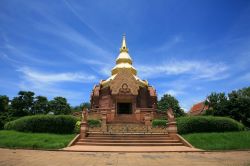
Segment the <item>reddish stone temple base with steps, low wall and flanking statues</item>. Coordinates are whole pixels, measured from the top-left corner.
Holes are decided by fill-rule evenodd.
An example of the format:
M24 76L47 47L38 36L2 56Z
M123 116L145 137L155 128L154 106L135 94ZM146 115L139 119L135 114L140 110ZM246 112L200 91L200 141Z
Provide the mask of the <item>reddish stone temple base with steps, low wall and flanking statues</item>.
M70 146L187 146L184 138L177 134L176 122L172 110L168 111L167 127L152 127L151 123L131 123L129 115L116 117L112 123L105 123L103 114L102 126L91 128L87 125L87 111L83 111L81 133ZM134 118L134 117L133 117ZM172 118L172 119L171 119Z

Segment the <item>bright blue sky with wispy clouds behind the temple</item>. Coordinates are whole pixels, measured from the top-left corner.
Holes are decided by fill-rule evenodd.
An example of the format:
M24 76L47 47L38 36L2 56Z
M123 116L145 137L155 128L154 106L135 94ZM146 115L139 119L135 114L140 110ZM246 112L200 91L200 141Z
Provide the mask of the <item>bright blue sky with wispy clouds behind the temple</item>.
M250 85L249 0L1 0L0 94L89 101L123 33L138 75L185 110Z

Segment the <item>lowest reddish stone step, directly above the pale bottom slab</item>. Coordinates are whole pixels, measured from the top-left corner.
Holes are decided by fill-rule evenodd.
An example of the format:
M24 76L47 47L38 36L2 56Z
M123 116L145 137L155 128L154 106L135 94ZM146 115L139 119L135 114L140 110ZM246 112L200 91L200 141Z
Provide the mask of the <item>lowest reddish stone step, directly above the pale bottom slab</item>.
M98 143L98 142L77 142L76 145L93 146L183 146L182 143Z

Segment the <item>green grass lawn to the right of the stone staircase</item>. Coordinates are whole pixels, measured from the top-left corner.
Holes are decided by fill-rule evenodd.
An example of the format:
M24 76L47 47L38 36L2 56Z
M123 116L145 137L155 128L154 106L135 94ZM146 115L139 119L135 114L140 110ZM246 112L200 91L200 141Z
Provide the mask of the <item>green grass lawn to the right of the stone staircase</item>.
M182 136L194 147L204 150L250 149L250 131L195 133Z

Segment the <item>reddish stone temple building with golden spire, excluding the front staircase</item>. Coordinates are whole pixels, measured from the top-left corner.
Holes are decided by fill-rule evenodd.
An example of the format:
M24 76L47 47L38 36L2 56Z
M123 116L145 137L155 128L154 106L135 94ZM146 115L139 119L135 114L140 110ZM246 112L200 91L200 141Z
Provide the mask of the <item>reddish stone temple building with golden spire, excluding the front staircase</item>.
M120 53L111 76L95 85L91 93L91 110L105 112L106 122L144 122L152 119L157 104L156 90L137 76L123 35Z

